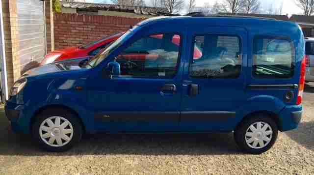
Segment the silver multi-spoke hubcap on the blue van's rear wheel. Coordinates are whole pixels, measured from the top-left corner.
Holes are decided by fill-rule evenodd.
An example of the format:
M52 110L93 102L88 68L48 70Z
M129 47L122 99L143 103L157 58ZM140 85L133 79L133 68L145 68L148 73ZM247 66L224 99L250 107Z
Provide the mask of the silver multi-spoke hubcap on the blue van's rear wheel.
M273 130L270 125L259 121L250 125L245 133L245 142L254 149L260 149L267 146L272 138Z

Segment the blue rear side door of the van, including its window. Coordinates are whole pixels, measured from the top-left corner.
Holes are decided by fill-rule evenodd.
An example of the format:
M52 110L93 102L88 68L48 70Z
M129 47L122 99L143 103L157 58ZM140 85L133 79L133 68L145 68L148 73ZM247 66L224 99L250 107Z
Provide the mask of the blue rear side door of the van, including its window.
M229 130L246 100L247 32L235 27L192 27L188 32L180 127ZM201 51L200 58L193 57L195 49Z

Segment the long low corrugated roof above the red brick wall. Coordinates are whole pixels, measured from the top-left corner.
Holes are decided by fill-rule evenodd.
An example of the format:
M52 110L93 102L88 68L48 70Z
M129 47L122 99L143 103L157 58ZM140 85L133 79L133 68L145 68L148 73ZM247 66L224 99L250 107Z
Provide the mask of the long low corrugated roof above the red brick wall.
M169 13L167 8L163 7L149 7L149 6L133 6L133 5L116 5L116 4L103 4L103 3L85 3L85 2L67 2L61 1L63 7L66 8L78 8L78 9L88 9L96 8L99 10L108 11L123 11L136 14L144 15L159 15L163 13Z

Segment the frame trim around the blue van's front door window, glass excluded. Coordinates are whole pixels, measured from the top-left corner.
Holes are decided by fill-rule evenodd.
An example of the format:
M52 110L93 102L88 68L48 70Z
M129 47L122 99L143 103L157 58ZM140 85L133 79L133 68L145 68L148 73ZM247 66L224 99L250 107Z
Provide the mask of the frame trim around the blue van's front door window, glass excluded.
M178 46L178 48L179 48L179 53L178 53L178 59L177 59L177 64L176 64L176 72L175 72L175 74L172 76L172 77L166 77L166 76L164 76L164 77L160 77L160 76L156 76L156 77L149 77L149 76L131 76L131 75L115 75L115 76L112 76L112 78L116 78L116 79L123 79L123 78L128 78L128 79L166 79L166 80L170 80L170 79L174 79L177 75L178 75L178 72L180 71L180 65L181 65L181 53L182 53L182 48L183 48L183 37L182 37L182 34L181 33L179 33L179 32L154 32L154 33L150 33L150 34L148 34L148 35L143 35L143 36L141 36L139 39L136 39L134 42L132 42L131 44L130 44L130 46L133 44L133 43L135 43L136 41L138 41L138 40L140 40L140 39L142 39L142 38L144 38L144 37L150 37L151 35L157 35L157 34L173 34L173 35L179 35L180 36L180 45ZM129 47L130 47L129 46ZM128 48L128 47L127 47ZM127 49L126 48L126 49ZM124 49L125 50L125 49ZM123 50L123 51L124 51ZM123 52L122 51L122 52ZM122 53L121 52L121 53ZM117 56L119 56L121 53L119 53L118 55L116 55L115 57L117 57ZM112 61L113 59L115 59L115 57L114 58L112 58L112 59L110 59L109 60L109 62L110 61Z

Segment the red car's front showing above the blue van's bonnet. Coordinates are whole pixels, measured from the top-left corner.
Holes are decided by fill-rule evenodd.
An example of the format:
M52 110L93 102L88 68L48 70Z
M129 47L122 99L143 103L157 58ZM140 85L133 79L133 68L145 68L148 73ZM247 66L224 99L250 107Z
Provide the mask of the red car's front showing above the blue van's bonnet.
M55 50L47 54L45 58L41 61L41 65L49 64L54 61L61 61L70 58L82 58L82 57L94 57L98 52L105 48L112 41L118 39L123 32L115 33L103 39L90 42L88 44L79 47L69 47L61 50Z

